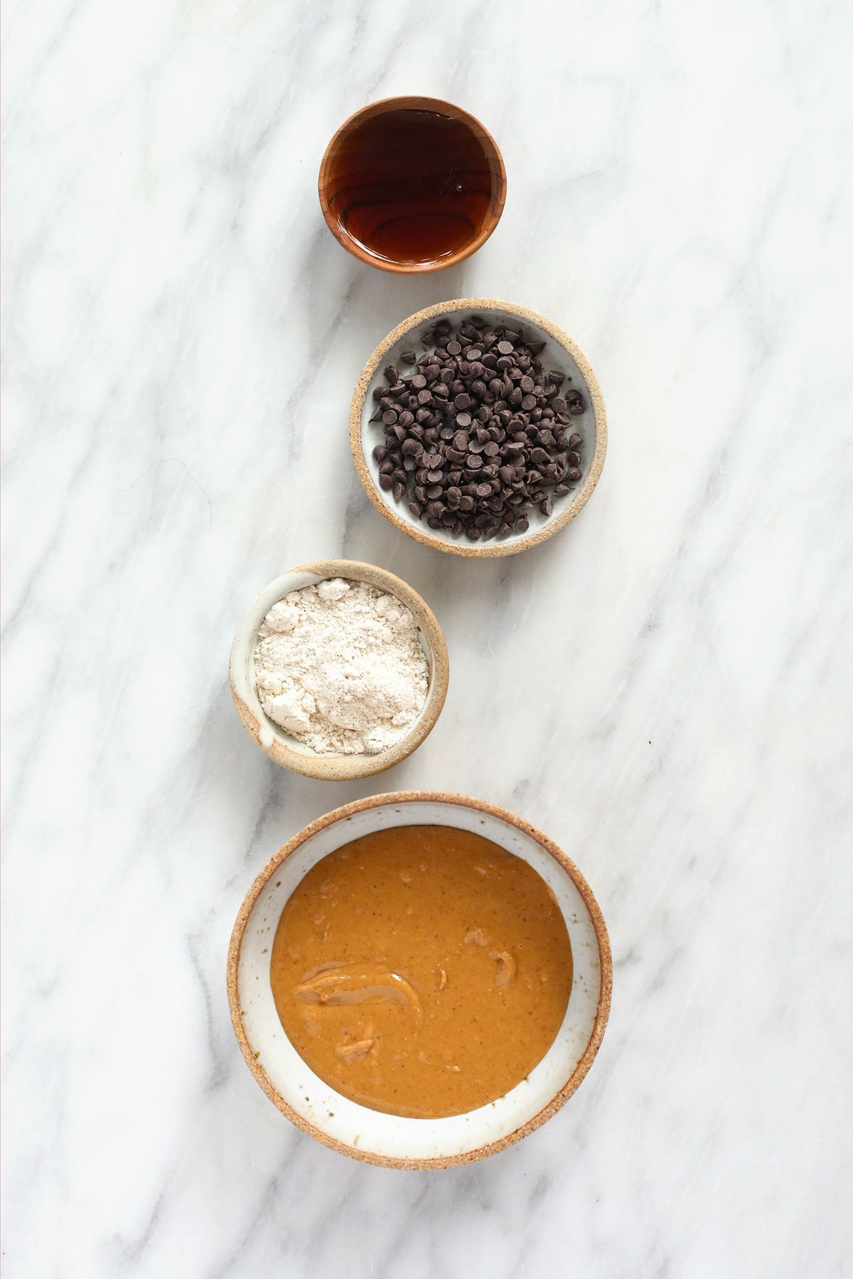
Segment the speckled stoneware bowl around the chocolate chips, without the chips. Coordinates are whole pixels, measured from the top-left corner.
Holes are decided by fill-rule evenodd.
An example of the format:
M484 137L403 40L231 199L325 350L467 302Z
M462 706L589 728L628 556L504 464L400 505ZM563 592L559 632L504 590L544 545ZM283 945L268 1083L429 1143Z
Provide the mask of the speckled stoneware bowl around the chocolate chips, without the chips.
M541 356L545 367L558 370L570 377L570 386L579 390L587 403L586 412L579 417L573 417L573 425L569 428L577 430L583 436L581 480L577 489L563 498L554 499L551 515L544 515L535 506L528 513L529 528L527 532L510 533L508 537L489 542L471 542L464 533L454 537L453 533L442 528L430 528L425 519L418 519L411 513L405 500L395 501L391 492L380 489L379 463L373 458L373 446L382 444L385 436L380 425L370 422L376 407L372 391L373 388L385 385L384 370L389 365L405 368L399 359L404 350L416 350L418 357L426 353L427 348L421 345L419 338L430 322L444 316L455 322L463 316L471 315L482 316L491 325L503 322L518 327L520 324L527 336L547 343ZM531 546L538 546L546 537L551 537L560 528L564 528L581 512L597 485L604 467L607 451L607 421L601 390L592 368L568 334L558 329L551 320L512 302L499 302L494 298L457 298L454 302L441 302L432 307L425 307L423 311L409 316L379 344L364 365L356 386L349 413L349 444L358 478L364 486L367 496L400 532L414 537L416 541L423 542L426 546L449 551L451 555L478 555L494 559L499 555L515 555Z

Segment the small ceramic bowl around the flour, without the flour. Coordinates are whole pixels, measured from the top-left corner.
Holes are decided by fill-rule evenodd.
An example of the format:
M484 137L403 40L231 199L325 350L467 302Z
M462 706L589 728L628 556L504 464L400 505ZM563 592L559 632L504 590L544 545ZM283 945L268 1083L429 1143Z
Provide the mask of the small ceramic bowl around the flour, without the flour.
M430 663L430 684L421 714L399 742L377 755L317 755L311 747L297 742L274 724L263 714L258 701L254 687L254 645L263 618L289 591L316 586L329 577L367 582L379 591L396 596L414 615L421 645ZM246 732L283 769L325 781L349 781L353 778L368 778L373 773L384 773L416 751L441 714L448 694L449 674L448 646L428 605L417 591L394 573L375 564L362 564L359 560L316 560L313 564L292 569L284 577L278 577L252 600L231 645L231 696Z

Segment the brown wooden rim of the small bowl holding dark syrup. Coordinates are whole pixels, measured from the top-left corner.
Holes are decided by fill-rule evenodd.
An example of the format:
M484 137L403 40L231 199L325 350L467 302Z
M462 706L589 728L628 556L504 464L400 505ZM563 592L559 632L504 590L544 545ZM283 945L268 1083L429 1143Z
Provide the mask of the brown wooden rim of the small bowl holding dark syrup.
M362 120L368 120L373 115L381 115L386 111L436 111L439 115L448 115L454 120L466 123L474 133L480 130L492 150L492 155L489 159L490 161L496 161L499 170L499 185L494 200L490 202L489 214L483 226L469 244L466 244L463 248L458 249L455 253L450 253L445 258L439 258L432 262L394 262L389 258L381 258L377 255L371 253L368 248L361 244L357 239L353 239L352 235L348 235L330 210L327 193L329 170L331 168L331 157L340 138L354 124ZM326 220L329 230L335 237L338 243L345 248L348 253L352 253L353 257L358 258L359 262L364 262L367 266L375 266L379 271L390 271L394 275L427 275L432 271L445 271L450 266L458 266L459 262L464 262L466 258L471 257L472 253L476 253L477 249L482 248L486 243L497 226L506 203L506 166L504 164L504 157L500 153L500 147L486 125L478 120L476 115L472 115L471 111L466 111L463 106L457 106L455 102L448 102L441 97L428 97L422 95L382 97L376 102L367 102L366 106L361 106L357 111L353 111L353 114L349 115L331 136L320 162L317 193L320 196L322 216Z

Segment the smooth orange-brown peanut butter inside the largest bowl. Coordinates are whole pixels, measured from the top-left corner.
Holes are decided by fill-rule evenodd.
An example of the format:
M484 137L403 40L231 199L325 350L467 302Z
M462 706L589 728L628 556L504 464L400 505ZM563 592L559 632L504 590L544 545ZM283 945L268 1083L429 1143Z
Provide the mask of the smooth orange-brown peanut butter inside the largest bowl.
M270 964L286 1035L373 1110L462 1114L519 1083L554 1042L572 948L542 877L449 826L363 835L308 871Z

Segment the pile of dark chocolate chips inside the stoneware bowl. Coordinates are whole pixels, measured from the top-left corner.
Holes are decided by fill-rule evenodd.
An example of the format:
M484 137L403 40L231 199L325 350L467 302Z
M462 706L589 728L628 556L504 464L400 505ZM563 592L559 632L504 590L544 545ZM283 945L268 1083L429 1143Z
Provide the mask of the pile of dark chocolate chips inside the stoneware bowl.
M444 320L422 340L435 349L399 357L413 375L389 365L372 393L386 441L373 449L380 487L431 528L473 541L527 531L533 506L549 518L581 477L582 437L564 428L586 411L582 395L558 394L565 375L545 373L545 344L520 330L472 318L454 336Z

